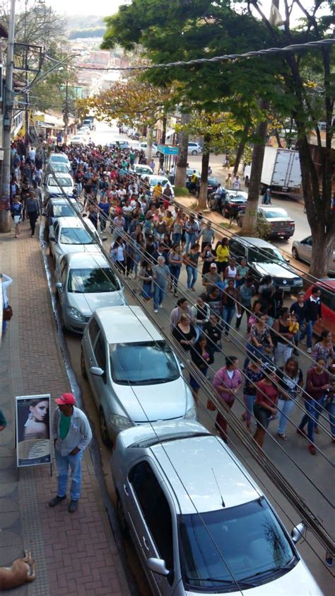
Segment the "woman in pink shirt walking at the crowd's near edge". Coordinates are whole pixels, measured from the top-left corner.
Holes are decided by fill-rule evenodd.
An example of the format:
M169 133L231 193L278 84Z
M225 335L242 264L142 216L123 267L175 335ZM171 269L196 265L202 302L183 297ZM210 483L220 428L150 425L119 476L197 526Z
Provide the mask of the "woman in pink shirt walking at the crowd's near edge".
M213 387L218 392L220 401L224 401L229 408L232 408L241 385L242 375L238 370L238 360L235 356L229 356L225 359L225 366L216 372ZM227 442L227 420L221 412L216 415L215 426L223 440Z

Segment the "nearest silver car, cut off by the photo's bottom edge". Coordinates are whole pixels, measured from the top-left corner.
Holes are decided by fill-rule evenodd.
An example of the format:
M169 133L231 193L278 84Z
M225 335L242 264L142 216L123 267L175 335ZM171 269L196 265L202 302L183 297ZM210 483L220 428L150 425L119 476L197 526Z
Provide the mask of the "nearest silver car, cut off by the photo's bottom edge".
M199 423L124 430L111 460L117 510L156 596L322 596L261 488Z

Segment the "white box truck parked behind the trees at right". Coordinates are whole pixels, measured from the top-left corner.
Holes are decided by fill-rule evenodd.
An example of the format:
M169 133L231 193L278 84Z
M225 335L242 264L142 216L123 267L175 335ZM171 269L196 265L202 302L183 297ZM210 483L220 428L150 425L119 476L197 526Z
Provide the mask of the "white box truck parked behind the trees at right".
M266 188L288 193L300 189L301 170L298 151L265 147L261 170L261 193Z

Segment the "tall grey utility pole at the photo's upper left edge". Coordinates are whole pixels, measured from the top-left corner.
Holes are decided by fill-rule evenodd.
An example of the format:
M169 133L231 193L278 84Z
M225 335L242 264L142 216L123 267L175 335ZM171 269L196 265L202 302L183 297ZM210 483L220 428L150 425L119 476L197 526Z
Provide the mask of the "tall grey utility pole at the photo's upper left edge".
M6 92L4 113L4 161L2 162L2 188L0 197L0 232L11 230L10 190L11 181L11 119L13 115L13 58L15 35L15 0L11 0L8 47L6 60Z

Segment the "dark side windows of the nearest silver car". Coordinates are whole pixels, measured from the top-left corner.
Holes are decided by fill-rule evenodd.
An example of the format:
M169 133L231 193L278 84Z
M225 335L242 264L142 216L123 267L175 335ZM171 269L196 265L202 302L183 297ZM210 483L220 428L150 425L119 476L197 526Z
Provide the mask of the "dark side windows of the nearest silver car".
M170 585L173 583L173 540L172 517L165 494L160 487L153 469L148 462L140 462L129 472L131 483L143 517L153 537L160 558L163 558L170 575L167 577Z

